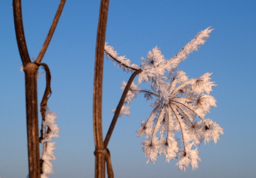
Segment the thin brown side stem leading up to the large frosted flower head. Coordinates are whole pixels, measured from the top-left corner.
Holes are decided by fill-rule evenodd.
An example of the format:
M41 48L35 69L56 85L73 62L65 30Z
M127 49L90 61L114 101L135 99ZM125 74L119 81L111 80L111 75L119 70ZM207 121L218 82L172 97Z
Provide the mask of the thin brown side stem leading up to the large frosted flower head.
M135 76L137 76L140 72L142 72L142 69L135 70L135 71L133 72L133 74L131 75L131 77L130 77L128 83L127 83L126 86L125 86L125 88L124 88L124 92L123 92L122 97L121 97L121 99L120 99L120 101L119 101L119 103L118 103L118 106L117 106L117 108L116 108L114 117L113 117L112 122L111 122L111 124L110 124L110 126L109 126L108 133L107 133L107 135L106 135L106 137L105 137L105 140L104 140L105 148L107 148L107 146L108 146L109 139L110 139L110 137L111 137L111 134L112 134L113 131L114 131L114 128L115 128L115 125L116 125L118 116L119 116L120 111L121 111L121 108L122 108L122 106L123 106L123 104L124 104L125 97L126 97L128 91L130 90L132 81L133 81L133 79L135 78Z

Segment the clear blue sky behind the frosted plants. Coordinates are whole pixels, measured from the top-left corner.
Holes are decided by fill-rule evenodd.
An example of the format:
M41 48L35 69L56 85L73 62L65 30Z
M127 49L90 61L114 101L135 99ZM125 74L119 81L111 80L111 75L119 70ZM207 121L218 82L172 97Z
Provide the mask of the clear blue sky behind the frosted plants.
M23 1L23 21L31 58L36 58L59 1ZM15 41L12 1L0 2L0 177L28 174L24 74ZM92 96L95 41L100 1L67 1L43 59L51 69L49 108L58 112L57 160L49 177L93 177ZM118 120L109 142L116 177L255 177L256 147L256 1L112 1L106 41L140 64L153 47L172 58L198 31L215 30L198 52L180 64L190 77L213 72L217 108L208 115L224 128L218 144L202 144L199 169L178 171L177 160L146 164L135 131L150 114L150 103L138 96L131 116ZM103 130L113 117L123 80L130 77L105 60ZM43 71L43 70L42 70ZM42 98L45 75L38 78Z

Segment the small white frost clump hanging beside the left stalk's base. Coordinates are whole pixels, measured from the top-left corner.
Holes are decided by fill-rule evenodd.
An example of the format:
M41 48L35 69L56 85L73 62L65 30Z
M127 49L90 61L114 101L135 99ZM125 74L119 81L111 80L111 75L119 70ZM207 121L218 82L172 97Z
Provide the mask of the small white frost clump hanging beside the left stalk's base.
M43 144L42 160L43 160L43 174L41 178L47 178L47 174L53 174L53 166L51 160L55 160L54 150L56 149L55 142L51 142L53 137L59 137L60 128L55 121L57 116L54 112L49 109L46 110L45 120L43 122Z

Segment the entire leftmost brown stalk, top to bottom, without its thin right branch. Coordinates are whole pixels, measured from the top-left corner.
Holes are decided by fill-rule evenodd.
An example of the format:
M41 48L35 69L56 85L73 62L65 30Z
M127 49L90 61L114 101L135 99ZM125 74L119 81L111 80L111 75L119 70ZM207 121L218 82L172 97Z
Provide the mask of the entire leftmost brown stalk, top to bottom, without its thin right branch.
M38 142L37 111L37 70L38 66L30 62L22 22L21 0L13 0L13 17L17 44L25 71L26 114L28 137L29 177L40 178L40 157Z

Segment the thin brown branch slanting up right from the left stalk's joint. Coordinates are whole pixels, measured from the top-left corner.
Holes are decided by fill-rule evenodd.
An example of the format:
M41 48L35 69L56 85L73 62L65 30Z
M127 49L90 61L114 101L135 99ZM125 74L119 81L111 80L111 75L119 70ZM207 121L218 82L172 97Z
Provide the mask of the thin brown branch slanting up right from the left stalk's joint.
M49 30L49 33L48 33L48 35L47 35L47 37L46 37L46 39L44 41L44 45L42 46L41 51L40 51L40 53L37 56L36 62L41 62L42 59L43 59L43 56L44 56L44 54L45 54L45 52L47 50L47 47L49 46L49 43L50 43L50 41L52 39L54 30L57 27L57 24L58 24L58 21L60 19L60 15L61 15L61 12L63 10L63 7L64 7L65 3L66 3L66 0L61 0L60 1L58 10L57 10L57 12L55 14L55 17L53 19L53 22L52 22L52 26L51 26L51 28Z

